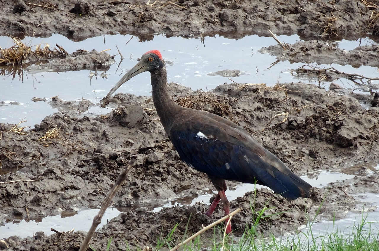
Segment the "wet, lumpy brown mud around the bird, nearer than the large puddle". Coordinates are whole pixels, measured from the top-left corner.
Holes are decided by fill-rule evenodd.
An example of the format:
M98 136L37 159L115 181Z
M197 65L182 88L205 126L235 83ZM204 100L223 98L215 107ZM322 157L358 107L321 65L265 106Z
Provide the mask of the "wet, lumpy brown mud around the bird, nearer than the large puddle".
M178 103L201 107L245 127L299 175L377 161L378 108L364 109L354 97L304 83L280 84L274 88L221 85L212 93L193 92L176 84L169 85L169 89ZM186 103L188 100L191 102ZM110 102L110 107L117 109L106 116L79 113L68 105L59 113L47 116L25 135L15 132L14 125L0 125L3 173L0 181L25 180L0 184L2 222L15 217L33 220L38 216L97 207L132 157L137 163L115 196L113 206L163 204L178 196L213 189L204 174L188 168L172 150L152 109L151 97L117 94ZM272 119L279 114L283 115ZM55 126L59 133L49 139L46 133ZM289 210L262 223L259 227L262 232L296 231L308 217L315 215L324 198L319 218L330 219L334 214L343 217L350 210L357 210L356 205L360 204L351 195L365 191L364 187L374 191L377 178L374 173L329 188L314 188L311 198L296 201L287 201L267 189L258 190L255 199L254 193L241 195L231 201L231 209L243 208L240 216L233 218L232 228L238 236L246 226L251 226L255 217L250 209L251 201L255 201L257 210L264 206L274 207L270 213ZM227 182L227 185L233 187L234 183ZM175 238L182 240L191 213L189 232L196 232L202 224L222 216L220 207L211 218L197 213L206 208L196 204L152 213L140 207L106 224L97 232L92 246L104 246L113 236L112 243L117 248L124 249L125 239L129 245L143 248L156 242L162 228L165 236L176 223L181 224ZM83 233L74 232L8 240L14 240L13 247L19 250L40 250L51 242L57 243L58 249L71 250L77 249L82 238ZM71 241L65 242L67 239ZM56 250L57 246L50 248Z

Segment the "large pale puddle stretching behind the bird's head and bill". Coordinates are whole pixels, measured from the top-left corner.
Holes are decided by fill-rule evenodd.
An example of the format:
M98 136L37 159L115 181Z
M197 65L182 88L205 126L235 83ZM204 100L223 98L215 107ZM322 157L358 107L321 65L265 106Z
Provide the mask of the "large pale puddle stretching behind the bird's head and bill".
M41 72L35 74L26 74L23 79L12 79L11 75L2 75L0 77L2 92L0 93L0 122L17 124L20 120L27 120L22 126L31 126L39 124L41 120L56 111L50 107L49 102L33 102L33 97L50 98L59 96L63 100L89 99L94 104L99 102L108 91L113 87L120 76L136 63L136 59L150 49L160 49L164 59L171 63L168 64L168 80L189 86L192 89L213 89L222 83L232 83L231 80L238 83L266 83L275 85L280 82L298 82L288 69L301 67L303 63L290 63L288 61L277 62L275 56L268 53L261 54L257 51L262 47L274 45L276 42L273 38L246 36L242 39L234 40L222 37L207 37L203 45L200 39L170 38L170 42L164 36L155 36L152 41L139 42L138 38L132 38L130 35L106 35L86 39L81 42L73 42L61 35L52 35L49 38L25 38L23 42L36 45L40 43L49 43L54 47L56 43L61 45L67 52L74 52L77 49L108 51L111 55L117 55L117 47L124 60L116 56L116 64L105 72L103 77L97 72L97 77L89 77L91 71L72 71L72 72ZM297 35L279 36L280 41L294 43L299 41ZM129 41L130 40L130 41ZM341 41L344 48L357 47L368 39L359 41ZM366 43L367 43L366 41ZM0 36L0 46L2 48L10 47L13 43L11 39ZM118 64L120 66L118 67ZM339 71L361 74L367 77L377 77L377 69L370 66L362 66L358 69L346 65L338 66L336 64L319 65L318 67L335 67ZM0 68L1 71L2 68ZM210 72L220 70L240 70L247 74L239 77L210 76ZM17 77L17 74L16 74ZM318 80L309 78L300 79L305 83L318 85ZM345 80L337 81L338 84ZM347 81L347 80L346 80ZM345 81L345 82L346 82ZM136 83L139 83L136 85ZM342 83L343 85L343 83ZM328 86L328 83L325 83ZM351 86L349 86L351 87ZM150 75L141 74L133 80L122 85L117 92L133 93L136 95L150 96ZM17 104L17 105L11 105ZM90 113L105 114L109 110L99 107L89 109Z

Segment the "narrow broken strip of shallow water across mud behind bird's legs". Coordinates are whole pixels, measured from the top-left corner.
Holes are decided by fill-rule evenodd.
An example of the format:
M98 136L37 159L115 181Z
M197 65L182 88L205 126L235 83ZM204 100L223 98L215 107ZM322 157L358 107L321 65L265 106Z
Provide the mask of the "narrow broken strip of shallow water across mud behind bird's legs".
M351 168L354 170L356 166L352 166ZM379 170L379 165L371 165L371 168L375 170ZM363 174L360 174L363 175ZM356 175L352 174L343 174L334 172L321 171L320 173L311 173L308 176L302 176L301 178L309 182L312 186L315 187L324 187L330 182L335 182L337 180L346 180L351 179ZM261 188L260 185L254 184L238 184L232 190L228 189L226 192L227 198L229 201L236 199L238 196L243 196L248 191L253 191L255 188ZM267 187L265 187L267 188ZM102 218L102 223L99 224L97 229L102 227L107 221L112 218L118 216L121 212L127 212L129 210L135 210L137 207L147 207L153 212L160 211L163 207L172 207L172 206L181 206L185 205L193 205L196 202L202 202L205 204L210 204L209 200L216 193L216 191L203 191L199 196L182 196L181 198L173 199L164 205L152 204L152 203L144 203L135 205L134 207L122 207L122 208L108 208ZM379 195L374 195L370 193L365 193L362 195L354 195L360 196L360 198L364 198L363 202L369 202L370 207L363 207L364 212L370 212L368 214L368 221L375 221L375 219L379 218L379 211L377 211L377 207L379 206ZM365 209L364 209L365 208ZM46 235L51 235L54 232L50 230L53 228L60 232L67 232L71 229L75 229L75 231L88 231L89 227L91 227L93 217L97 215L99 209L84 209L78 210L78 212L63 212L61 215L55 216L46 216L44 218L38 218L36 220L25 221L22 219L15 219L13 222L2 223L0 226L0 238L7 238L12 235L19 235L22 238L27 236L33 236L37 231L43 231ZM349 213L348 217L343 220L335 221L334 224L338 224L339 227L352 227L355 222L355 218L359 218L360 211ZM312 225L312 231L323 235L325 231L330 229L330 221L321 221L314 223ZM301 229L306 229L308 226L304 225ZM377 227L379 229L379 223L374 222L373 227Z

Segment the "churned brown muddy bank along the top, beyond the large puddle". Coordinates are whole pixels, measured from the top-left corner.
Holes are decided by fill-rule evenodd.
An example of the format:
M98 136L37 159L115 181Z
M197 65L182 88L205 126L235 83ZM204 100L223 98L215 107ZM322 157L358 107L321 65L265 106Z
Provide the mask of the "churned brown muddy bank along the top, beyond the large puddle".
M379 8L371 1L179 0L169 2L100 0L0 1L0 33L48 37L59 33L74 41L103 34L131 34L141 41L153 34L242 38L299 34L357 39L379 30ZM180 25L178 25L180 24Z

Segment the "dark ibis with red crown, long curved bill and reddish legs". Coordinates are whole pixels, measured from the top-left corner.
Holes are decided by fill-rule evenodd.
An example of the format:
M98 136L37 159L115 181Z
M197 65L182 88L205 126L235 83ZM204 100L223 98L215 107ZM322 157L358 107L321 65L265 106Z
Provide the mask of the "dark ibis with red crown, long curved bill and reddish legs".
M183 162L207 174L218 191L205 215L211 216L220 200L225 215L229 215L225 180L264 185L290 200L310 196L312 186L245 129L213 113L176 104L167 91L167 71L159 50L144 53L109 91L102 107L123 83L146 71L150 72L153 103L169 140ZM225 231L232 232L230 223Z

